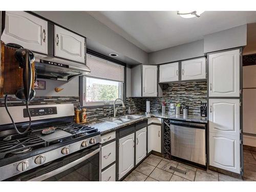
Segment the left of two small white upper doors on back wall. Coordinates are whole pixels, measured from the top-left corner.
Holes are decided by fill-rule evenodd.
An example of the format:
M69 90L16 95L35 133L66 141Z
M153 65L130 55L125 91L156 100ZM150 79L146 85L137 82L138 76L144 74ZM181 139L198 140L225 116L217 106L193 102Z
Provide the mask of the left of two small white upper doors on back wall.
M159 66L159 82L179 80L179 62Z

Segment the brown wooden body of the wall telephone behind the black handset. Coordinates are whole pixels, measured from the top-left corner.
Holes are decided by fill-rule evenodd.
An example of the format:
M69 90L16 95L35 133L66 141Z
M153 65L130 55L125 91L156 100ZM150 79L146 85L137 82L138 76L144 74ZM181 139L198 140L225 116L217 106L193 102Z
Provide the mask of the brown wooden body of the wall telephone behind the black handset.
M8 47L1 41L1 81L0 98L5 94L14 95L23 86L23 69L19 67L19 62L15 58L17 49ZM32 82L35 80L35 64L32 63ZM34 89L34 83L32 83Z

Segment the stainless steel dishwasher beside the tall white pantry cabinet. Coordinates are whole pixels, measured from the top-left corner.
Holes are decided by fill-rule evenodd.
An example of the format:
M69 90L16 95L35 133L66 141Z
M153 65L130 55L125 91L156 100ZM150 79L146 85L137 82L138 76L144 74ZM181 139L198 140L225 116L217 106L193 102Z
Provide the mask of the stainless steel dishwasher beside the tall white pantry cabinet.
M170 154L206 165L206 124L170 120Z

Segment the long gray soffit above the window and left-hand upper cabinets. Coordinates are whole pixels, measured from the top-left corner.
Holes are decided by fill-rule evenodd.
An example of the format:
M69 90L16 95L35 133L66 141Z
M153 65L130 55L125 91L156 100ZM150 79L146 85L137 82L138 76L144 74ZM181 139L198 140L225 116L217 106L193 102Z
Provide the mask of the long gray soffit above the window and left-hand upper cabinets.
M67 27L90 40L106 46L117 53L130 57L140 63L148 63L146 52L127 41L121 35L100 23L84 11L34 11L53 22Z

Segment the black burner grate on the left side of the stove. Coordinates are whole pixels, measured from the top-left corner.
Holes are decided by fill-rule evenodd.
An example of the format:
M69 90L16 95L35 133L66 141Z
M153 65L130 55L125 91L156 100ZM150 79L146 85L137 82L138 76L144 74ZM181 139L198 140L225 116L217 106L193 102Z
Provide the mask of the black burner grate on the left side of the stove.
M14 135L12 138L10 141L0 141L0 159L47 146L46 141L31 133L26 136Z

